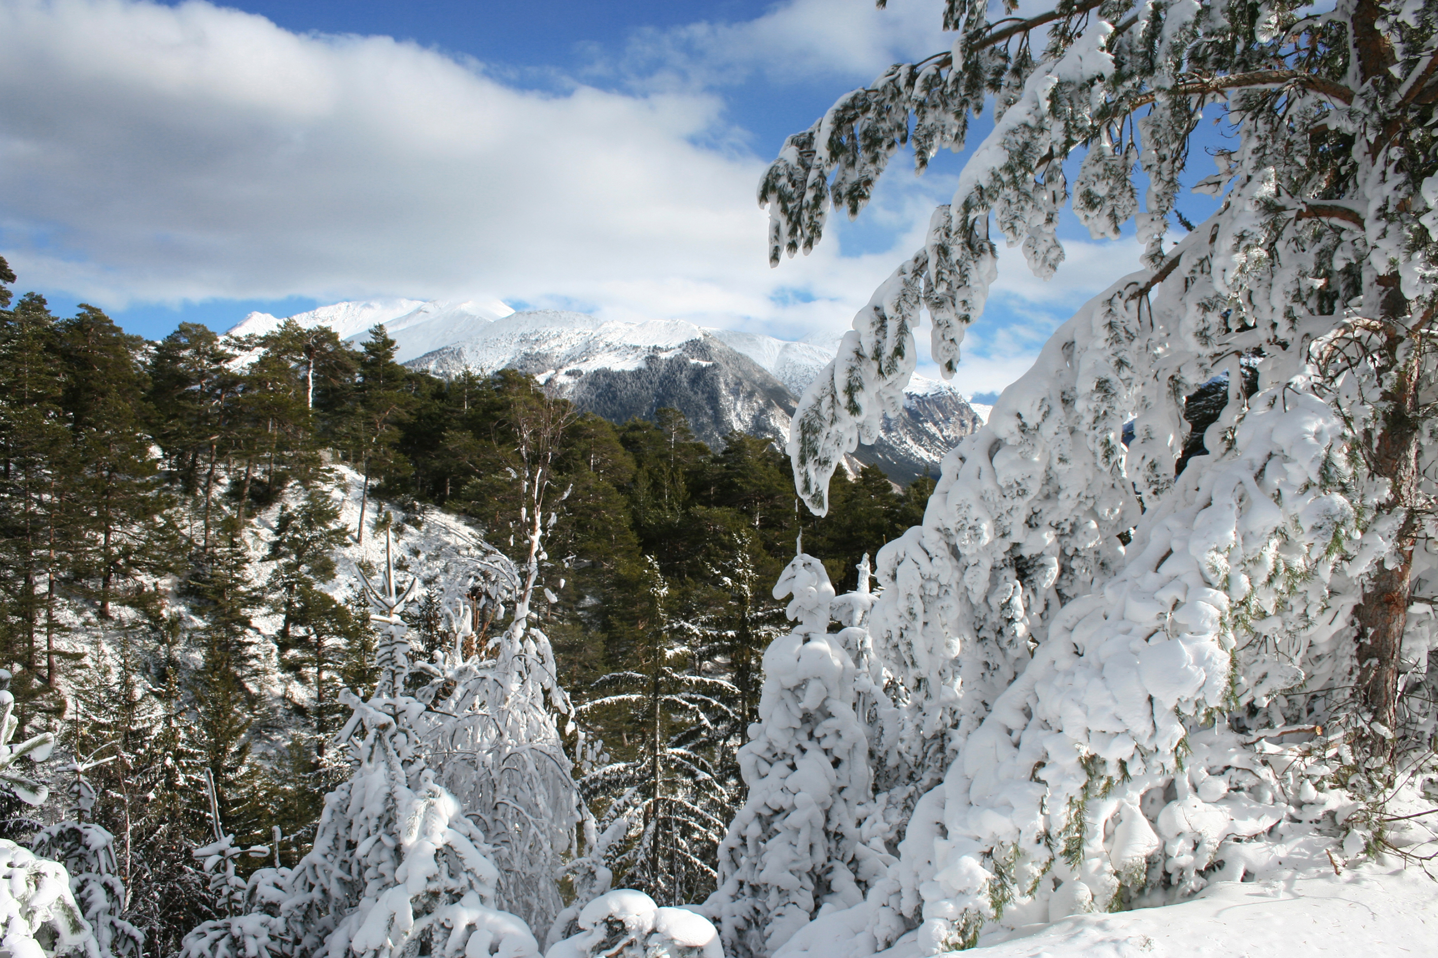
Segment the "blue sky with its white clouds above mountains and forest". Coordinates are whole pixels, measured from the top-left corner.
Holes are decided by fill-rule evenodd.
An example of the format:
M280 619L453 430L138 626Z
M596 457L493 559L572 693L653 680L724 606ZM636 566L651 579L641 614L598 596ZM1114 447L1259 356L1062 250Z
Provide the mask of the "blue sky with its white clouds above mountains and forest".
M923 178L897 158L858 223L778 270L758 175L840 93L946 47L939 9L0 0L0 254L56 312L150 338L364 297L834 335L963 157ZM1136 267L1132 241L1064 236L1051 283L1001 260L966 391Z

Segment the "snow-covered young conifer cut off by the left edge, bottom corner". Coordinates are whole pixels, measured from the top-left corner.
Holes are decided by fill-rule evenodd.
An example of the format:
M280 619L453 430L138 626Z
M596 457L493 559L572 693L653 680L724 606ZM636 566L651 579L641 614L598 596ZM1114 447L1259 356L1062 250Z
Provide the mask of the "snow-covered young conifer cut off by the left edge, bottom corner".
M0 793L36 806L49 790L22 774L16 763L47 758L55 735L42 733L19 745L10 744L20 722L9 684L10 672L0 669ZM101 958L95 935L70 893L65 866L7 839L0 839L0 948L14 958L52 958L65 952Z

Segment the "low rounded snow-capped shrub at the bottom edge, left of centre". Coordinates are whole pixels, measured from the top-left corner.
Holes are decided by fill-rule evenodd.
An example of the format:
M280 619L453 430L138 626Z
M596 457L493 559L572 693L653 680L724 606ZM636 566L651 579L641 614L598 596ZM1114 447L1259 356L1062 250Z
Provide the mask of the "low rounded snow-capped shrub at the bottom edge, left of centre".
M580 912L582 929L545 958L723 958L719 932L687 908L660 908L644 892L621 888Z

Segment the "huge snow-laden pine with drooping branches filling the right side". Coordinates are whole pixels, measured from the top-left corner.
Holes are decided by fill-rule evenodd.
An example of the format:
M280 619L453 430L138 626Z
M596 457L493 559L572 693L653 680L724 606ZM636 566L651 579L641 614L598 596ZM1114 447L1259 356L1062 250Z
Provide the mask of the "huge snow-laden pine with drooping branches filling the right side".
M1136 218L1146 269L1055 332L945 460L923 524L879 553L870 632L903 717L883 760L916 800L889 879L787 955L873 954L915 926L936 952L988 921L1192 890L1215 862L1242 875L1280 819L1332 810L1333 767L1357 797L1380 791L1432 721L1399 692L1432 648L1412 597L1438 579L1418 547L1435 491L1432 4L1080 0L989 22L949 0L943 26L951 49L841 98L761 185L778 261L818 240L830 200L857 214L902 144L920 169L961 148L992 96L952 204L801 401L789 454L810 507L902 401L920 309L956 369L995 276L991 220L1053 273L1074 154L1074 213L1094 237ZM1222 198L1169 247L1205 113L1235 136L1195 185ZM1175 480L1183 396L1215 382L1206 455ZM1336 737L1265 760L1268 737L1317 725Z

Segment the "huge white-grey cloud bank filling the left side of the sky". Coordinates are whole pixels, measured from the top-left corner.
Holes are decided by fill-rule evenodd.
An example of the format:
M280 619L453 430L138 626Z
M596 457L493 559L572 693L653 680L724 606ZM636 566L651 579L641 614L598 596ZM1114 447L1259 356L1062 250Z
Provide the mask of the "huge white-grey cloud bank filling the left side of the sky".
M703 95L522 92L387 37L206 3L0 4L0 228L26 283L106 306L362 294L772 317L879 263L768 270L762 162ZM833 244L830 244L833 246ZM871 273L871 280L864 279Z

